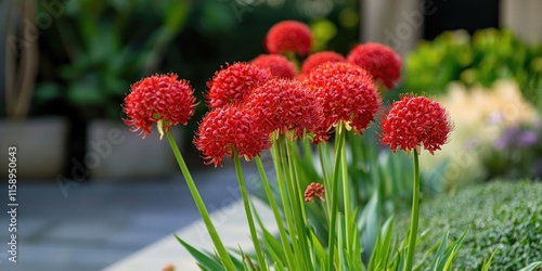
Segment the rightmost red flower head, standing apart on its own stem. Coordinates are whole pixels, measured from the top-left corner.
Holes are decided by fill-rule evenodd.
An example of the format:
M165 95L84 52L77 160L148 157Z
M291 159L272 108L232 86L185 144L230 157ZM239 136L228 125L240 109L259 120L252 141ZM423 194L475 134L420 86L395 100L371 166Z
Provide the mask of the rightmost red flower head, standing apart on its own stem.
M410 152L422 144L434 154L453 129L446 109L425 96L401 96L380 121L382 143ZM420 150L418 150L420 151Z

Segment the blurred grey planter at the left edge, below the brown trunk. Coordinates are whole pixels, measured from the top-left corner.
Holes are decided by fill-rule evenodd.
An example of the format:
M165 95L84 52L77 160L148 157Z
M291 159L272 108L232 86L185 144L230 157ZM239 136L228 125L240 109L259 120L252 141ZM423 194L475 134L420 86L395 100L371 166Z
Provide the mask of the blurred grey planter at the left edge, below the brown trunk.
M8 168L8 147L15 146L17 179L54 179L64 172L67 133L68 122L60 117L2 119L0 167Z

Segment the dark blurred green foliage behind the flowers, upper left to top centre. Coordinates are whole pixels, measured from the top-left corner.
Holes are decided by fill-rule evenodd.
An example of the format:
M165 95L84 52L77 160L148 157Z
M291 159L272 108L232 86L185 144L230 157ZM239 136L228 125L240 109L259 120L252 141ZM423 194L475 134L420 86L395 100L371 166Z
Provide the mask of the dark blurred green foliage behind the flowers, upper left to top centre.
M65 104L82 120L119 119L130 83L154 73L178 73L202 99L220 66L264 53L267 29L282 20L309 23L318 50L348 52L359 36L358 1L322 1L319 9L306 2L66 1L39 40L35 102L43 106L35 114L63 115L56 105Z

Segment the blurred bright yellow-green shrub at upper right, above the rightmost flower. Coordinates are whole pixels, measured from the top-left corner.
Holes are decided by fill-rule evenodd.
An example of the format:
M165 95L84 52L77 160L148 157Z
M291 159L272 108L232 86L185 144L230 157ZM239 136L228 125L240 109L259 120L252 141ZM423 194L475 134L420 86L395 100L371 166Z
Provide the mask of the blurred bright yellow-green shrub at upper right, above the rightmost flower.
M441 93L454 80L490 87L514 79L534 105L542 103L542 46L529 46L507 29L482 29L468 36L447 31L423 42L405 61L410 91Z

